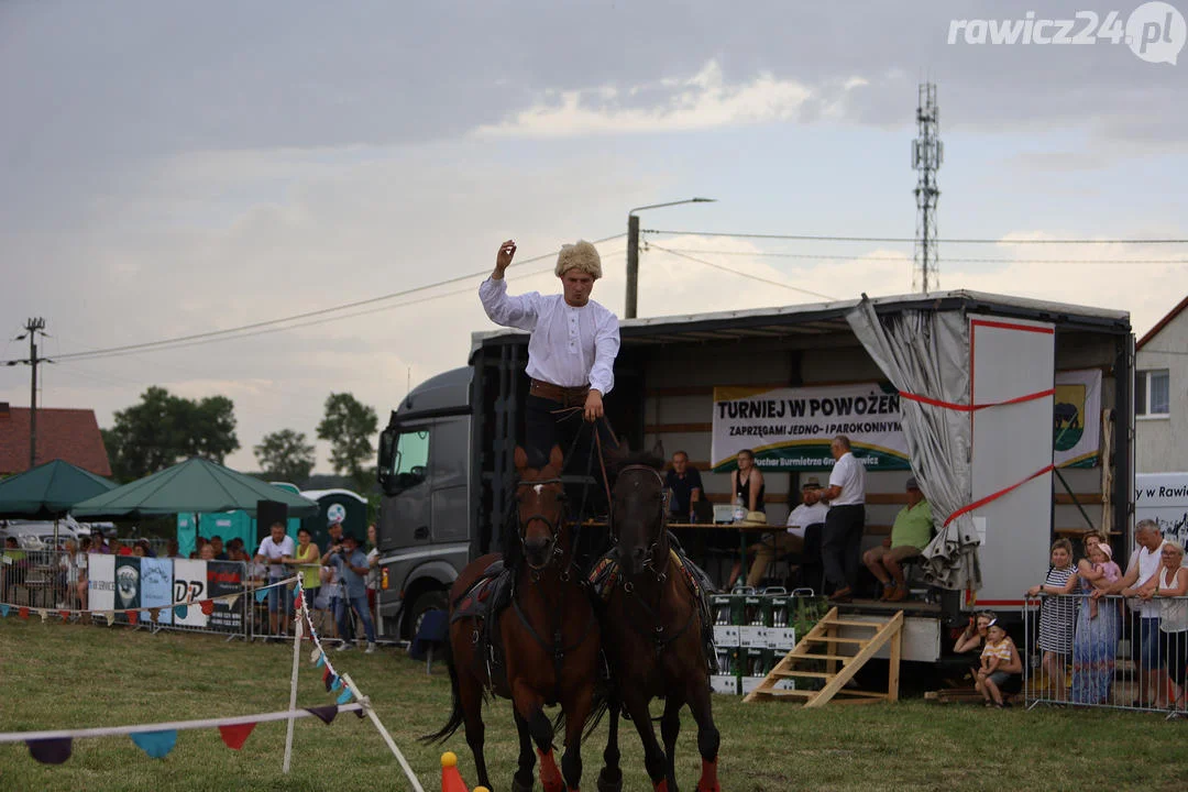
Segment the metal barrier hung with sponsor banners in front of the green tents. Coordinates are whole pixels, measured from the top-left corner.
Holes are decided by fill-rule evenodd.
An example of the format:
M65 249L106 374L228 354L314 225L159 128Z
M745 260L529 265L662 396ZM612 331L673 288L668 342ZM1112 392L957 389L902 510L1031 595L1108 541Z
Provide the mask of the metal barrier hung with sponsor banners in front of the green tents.
M21 615L137 628L251 635L247 564L5 549L0 606Z

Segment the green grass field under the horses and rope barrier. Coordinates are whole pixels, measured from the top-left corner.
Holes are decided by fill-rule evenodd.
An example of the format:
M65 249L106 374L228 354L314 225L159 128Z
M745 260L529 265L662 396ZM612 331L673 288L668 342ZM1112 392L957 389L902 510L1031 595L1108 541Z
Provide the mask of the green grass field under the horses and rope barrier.
M444 665L384 650L333 653L375 710L425 790L440 790L441 748L416 741L449 710ZM0 731L84 728L284 710L291 645L227 644L206 635L129 632L37 620L0 620ZM330 704L321 672L302 658L299 707ZM720 774L729 792L775 790L1183 790L1188 723L1158 715L1020 709L985 710L909 701L895 705L802 710L715 697L722 733ZM516 737L507 702L486 715L488 764L507 790ZM594 788L602 733L586 745L583 787ZM329 727L296 723L290 777L280 772L284 723L257 727L242 750L215 729L182 731L164 760L128 737L75 741L59 766L34 762L21 743L0 745L0 790L364 790L407 788L367 721L342 715ZM650 790L639 741L623 734L625 788ZM475 784L459 734L448 749ZM682 788L700 768L691 720L678 745ZM539 788L539 786L537 787Z

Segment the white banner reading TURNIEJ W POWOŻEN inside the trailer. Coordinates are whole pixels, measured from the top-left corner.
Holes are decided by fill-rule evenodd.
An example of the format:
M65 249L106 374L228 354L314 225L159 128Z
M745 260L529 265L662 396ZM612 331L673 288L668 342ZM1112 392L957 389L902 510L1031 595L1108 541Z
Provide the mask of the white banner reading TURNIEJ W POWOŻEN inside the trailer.
M876 382L814 388L714 388L714 473L742 449L760 470L828 470L829 443L846 435L867 470L908 470L899 394Z

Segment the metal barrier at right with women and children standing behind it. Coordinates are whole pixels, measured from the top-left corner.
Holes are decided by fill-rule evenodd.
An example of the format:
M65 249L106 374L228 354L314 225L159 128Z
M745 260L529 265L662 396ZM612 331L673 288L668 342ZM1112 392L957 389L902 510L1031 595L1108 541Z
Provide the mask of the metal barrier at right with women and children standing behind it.
M1188 712L1188 597L1045 595L1028 600L1026 705Z

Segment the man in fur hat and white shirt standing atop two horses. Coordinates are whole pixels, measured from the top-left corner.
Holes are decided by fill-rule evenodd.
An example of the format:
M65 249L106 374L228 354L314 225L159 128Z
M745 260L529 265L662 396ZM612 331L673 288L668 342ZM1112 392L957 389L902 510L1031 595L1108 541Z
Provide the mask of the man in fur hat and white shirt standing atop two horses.
M614 387L619 318L590 299L594 281L602 277L598 249L586 241L561 248L555 270L561 279L561 294L508 294L504 271L514 254L516 243L511 240L499 247L494 272L479 287L479 298L492 322L532 334L526 369L532 380L525 416L529 464L543 467L554 445L569 451L581 426L579 412L595 424L604 449L608 443L617 445L606 422L600 419L602 399ZM583 437L589 436L583 432ZM579 443L573 456L587 460L583 448L588 450L589 445ZM594 469L598 468L595 464Z

